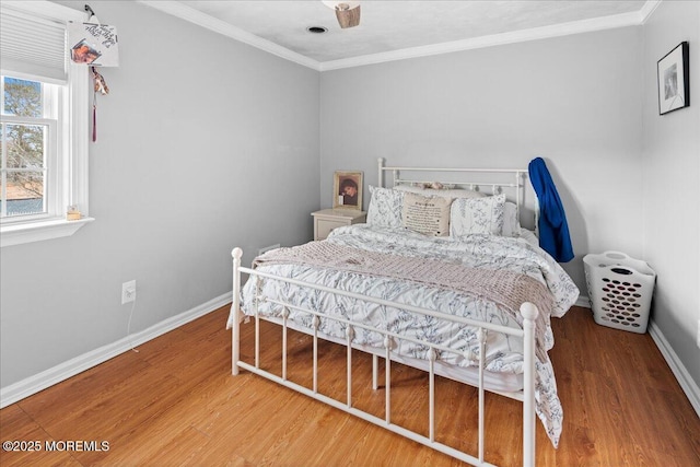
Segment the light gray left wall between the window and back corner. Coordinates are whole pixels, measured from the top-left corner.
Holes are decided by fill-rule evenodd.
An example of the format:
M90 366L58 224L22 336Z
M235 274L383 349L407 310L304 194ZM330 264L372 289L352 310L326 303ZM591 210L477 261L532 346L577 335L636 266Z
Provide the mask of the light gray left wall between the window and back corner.
M96 221L2 248L2 387L122 339L127 280L139 331L230 292L234 246L249 264L313 236L318 72L135 2L93 7L120 48L90 148Z

